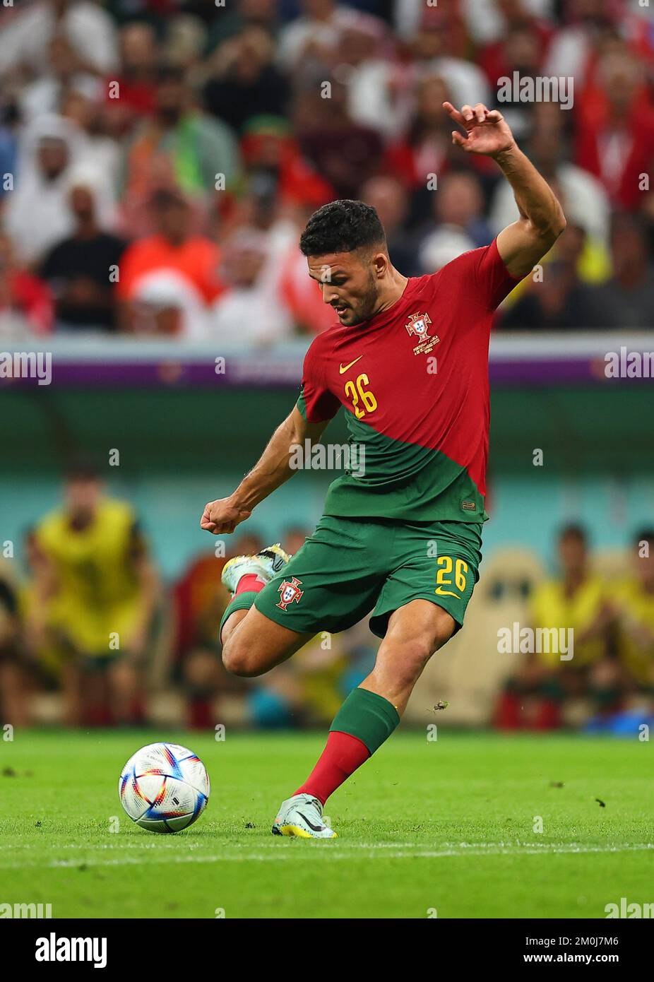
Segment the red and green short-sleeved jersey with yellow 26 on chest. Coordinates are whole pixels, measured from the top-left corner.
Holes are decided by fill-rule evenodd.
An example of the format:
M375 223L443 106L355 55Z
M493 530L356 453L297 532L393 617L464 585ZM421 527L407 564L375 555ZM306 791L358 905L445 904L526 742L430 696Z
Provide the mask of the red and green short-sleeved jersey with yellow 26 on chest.
M494 241L409 279L369 320L313 341L298 409L318 422L343 406L357 449L329 487L326 515L487 518L488 342L493 311L517 283Z

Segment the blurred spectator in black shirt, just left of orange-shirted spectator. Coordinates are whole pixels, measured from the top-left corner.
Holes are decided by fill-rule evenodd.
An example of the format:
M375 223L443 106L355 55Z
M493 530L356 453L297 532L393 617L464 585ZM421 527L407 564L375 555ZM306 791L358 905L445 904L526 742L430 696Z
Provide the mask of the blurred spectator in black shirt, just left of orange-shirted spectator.
M39 269L54 298L57 330L116 330L115 284L126 244L99 227L92 188L76 182L70 207L73 235L53 246Z

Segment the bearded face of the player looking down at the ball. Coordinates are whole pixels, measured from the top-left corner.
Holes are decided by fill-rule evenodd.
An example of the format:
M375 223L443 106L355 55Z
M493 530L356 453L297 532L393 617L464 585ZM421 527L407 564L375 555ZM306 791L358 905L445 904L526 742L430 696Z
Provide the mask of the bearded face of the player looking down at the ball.
M308 272L346 327L360 324L376 313L379 284L388 265L383 252L334 252L308 257Z

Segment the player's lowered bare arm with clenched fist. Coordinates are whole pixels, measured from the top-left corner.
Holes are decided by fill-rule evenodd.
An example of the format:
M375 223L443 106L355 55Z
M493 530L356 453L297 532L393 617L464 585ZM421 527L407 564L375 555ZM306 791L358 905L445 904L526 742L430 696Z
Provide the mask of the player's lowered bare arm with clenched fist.
M328 419L307 422L300 410L294 407L277 427L263 454L245 474L236 491L228 498L219 498L204 506L200 528L214 535L233 532L241 521L249 518L259 502L296 472L291 467L294 444L302 446L304 440L319 440L328 422Z

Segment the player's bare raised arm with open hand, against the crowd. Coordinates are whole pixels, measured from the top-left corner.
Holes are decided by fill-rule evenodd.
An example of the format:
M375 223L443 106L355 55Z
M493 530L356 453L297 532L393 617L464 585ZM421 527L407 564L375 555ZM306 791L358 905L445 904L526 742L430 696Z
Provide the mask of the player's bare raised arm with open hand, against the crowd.
M465 130L455 130L453 143L468 153L493 157L516 195L520 217L497 237L497 247L512 276L526 276L566 228L563 209L547 181L519 149L502 113L476 106L443 103L450 118Z

